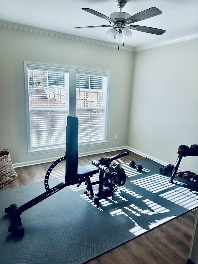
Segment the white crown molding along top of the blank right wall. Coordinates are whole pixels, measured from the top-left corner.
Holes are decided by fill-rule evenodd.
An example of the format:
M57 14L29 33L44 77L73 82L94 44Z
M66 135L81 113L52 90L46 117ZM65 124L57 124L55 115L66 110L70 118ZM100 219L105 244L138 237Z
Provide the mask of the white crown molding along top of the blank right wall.
M195 38L198 38L198 33L183 36L183 37L178 37L178 38L172 38L172 39L157 42L154 44L139 46L139 47L134 48L134 51L148 50L148 49L152 49L152 48L156 48L156 47L160 47L160 46L164 46L164 45L169 45L169 44L173 44L173 43L177 43L177 42L181 42L181 41L191 40L191 39L195 39Z

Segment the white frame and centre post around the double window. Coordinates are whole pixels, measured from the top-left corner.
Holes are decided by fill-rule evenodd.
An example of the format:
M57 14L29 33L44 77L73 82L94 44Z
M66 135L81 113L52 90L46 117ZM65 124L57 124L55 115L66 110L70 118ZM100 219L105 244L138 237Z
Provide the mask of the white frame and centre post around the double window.
M108 117L108 98L109 98L109 83L110 83L110 71L107 70L99 70L99 69L90 69L83 67L74 67L74 66L66 66L66 65L57 65L57 64L49 64L49 63L37 63L37 62L29 62L24 61L24 77L25 77L25 97L26 97L26 120L27 120L27 144L29 155L31 154L40 154L52 151L59 151L65 149L64 146L60 147L43 147L38 149L31 149L30 142L30 115L29 115L29 93L28 93L28 67L34 68L35 70L48 70L48 71L69 71L69 115L75 115L76 111L76 72L84 73L90 75L97 76L107 76L107 88L106 88L106 104L105 104L105 133L104 140L102 141L90 141L90 142L82 142L79 143L79 147L87 147L94 145L106 144L107 140L107 117Z

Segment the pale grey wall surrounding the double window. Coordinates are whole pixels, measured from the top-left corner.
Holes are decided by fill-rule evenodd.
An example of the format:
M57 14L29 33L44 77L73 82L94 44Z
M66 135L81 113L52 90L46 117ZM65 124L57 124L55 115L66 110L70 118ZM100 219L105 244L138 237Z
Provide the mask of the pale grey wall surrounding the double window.
M65 154L64 151L27 154L24 61L110 70L108 142L79 148L79 153L126 145L133 52L0 27L0 149L10 149L13 163Z

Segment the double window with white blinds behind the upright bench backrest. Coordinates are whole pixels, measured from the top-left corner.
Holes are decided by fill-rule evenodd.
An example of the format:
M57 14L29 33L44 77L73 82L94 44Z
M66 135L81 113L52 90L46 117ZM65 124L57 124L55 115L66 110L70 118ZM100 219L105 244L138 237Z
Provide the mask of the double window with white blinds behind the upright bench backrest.
M65 148L72 107L79 119L79 144L105 141L108 72L25 62L25 74L29 154Z

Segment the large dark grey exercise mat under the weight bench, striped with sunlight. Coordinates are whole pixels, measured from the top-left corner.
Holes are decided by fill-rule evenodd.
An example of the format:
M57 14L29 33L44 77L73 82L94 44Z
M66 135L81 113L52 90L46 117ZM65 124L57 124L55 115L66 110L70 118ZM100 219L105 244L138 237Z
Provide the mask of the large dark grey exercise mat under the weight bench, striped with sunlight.
M8 233L4 208L45 192L44 182L0 191L0 263L82 264L198 205L198 192L187 183L160 175L160 164L148 158L141 173L124 168L127 181L100 206L84 195L84 184L66 187L21 215L25 235ZM97 177L97 176L96 176ZM58 177L57 177L58 178ZM50 188L58 180L49 180Z

